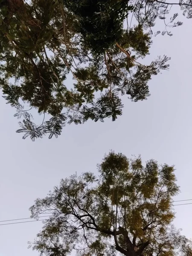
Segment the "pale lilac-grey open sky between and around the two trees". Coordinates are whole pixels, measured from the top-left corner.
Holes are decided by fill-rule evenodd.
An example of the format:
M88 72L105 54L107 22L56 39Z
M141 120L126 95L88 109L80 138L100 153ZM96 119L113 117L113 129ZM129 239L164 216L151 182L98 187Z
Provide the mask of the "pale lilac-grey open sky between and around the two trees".
M181 12L180 18L183 26L174 28L172 37L154 38L148 56L149 61L172 57L169 71L152 77L146 101L124 96L123 114L115 122L67 125L58 139L22 140L15 133L15 109L0 97L0 221L28 218L36 198L75 172L97 173L96 164L111 149L127 157L141 154L143 163L154 159L175 165L181 191L175 200L192 199L192 20ZM175 226L192 238L192 204L175 206L175 212ZM38 256L27 249L27 241L41 227L41 221L0 226L0 256Z

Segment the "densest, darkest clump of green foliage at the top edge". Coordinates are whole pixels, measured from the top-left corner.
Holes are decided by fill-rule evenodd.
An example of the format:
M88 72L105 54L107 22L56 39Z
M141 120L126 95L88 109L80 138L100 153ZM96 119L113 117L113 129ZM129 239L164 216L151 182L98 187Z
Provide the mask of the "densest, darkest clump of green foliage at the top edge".
M78 18L77 31L95 54L103 53L120 40L123 21L128 11L133 10L127 0L67 0L64 4Z

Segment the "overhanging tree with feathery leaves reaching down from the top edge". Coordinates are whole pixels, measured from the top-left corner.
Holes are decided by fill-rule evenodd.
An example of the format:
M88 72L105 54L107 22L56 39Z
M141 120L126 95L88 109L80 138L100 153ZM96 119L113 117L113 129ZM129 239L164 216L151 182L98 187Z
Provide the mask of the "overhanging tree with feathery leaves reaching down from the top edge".
M191 1L178 3L189 18ZM135 102L147 99L148 81L169 67L169 58L148 65L142 58L149 54L152 36L160 33L152 35L156 18L165 21L170 5L158 0L0 0L0 87L17 109L15 116L24 118L17 130L25 133L23 139L58 137L72 122L114 121L122 114L121 95ZM133 15L137 23L124 29L123 21ZM182 24L174 23L176 18L177 13L163 35L172 35L167 27ZM74 84L67 84L69 76ZM32 120L32 108L43 114L40 125Z

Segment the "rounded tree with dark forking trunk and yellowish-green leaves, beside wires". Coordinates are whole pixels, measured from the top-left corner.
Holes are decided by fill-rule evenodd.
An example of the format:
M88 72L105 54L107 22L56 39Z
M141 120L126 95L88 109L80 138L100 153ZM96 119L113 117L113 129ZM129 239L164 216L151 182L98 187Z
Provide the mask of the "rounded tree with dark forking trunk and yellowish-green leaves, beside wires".
M50 214L38 233L40 255L191 256L192 243L172 224L174 167L110 152L93 173L61 180L30 207L32 217Z

